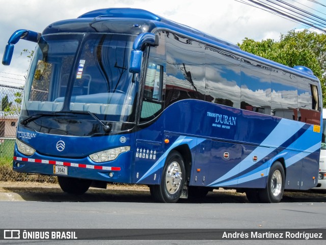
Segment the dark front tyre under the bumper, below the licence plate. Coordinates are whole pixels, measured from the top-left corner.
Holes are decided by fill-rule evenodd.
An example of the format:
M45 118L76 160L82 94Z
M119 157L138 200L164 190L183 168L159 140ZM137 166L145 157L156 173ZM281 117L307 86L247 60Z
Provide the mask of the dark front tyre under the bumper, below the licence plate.
M87 192L88 188L91 186L92 180L58 176L58 182L64 192L82 195Z

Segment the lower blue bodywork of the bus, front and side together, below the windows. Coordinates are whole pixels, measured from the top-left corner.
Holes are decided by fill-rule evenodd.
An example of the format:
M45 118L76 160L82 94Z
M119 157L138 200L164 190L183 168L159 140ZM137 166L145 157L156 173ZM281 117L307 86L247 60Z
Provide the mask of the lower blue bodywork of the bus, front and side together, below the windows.
M177 121L175 115L180 115ZM33 159L98 166L88 155L130 145L130 151L101 164L120 167L120 171L68 167L71 177L107 182L159 184L166 157L182 145L192 156L189 185L264 188L271 164L280 160L286 168L285 188L309 189L315 186L313 177L318 176L319 170L321 138L313 125L199 100L175 102L155 122L129 134L63 137L21 131L18 128L17 138L37 150L30 157ZM120 142L121 137L126 138L124 143ZM168 144L165 139L169 139ZM61 153L56 149L60 140L66 143ZM229 153L228 158L224 158L225 152ZM17 149L15 156L24 157ZM254 156L257 160L253 160ZM17 168L14 164L15 171L53 174L49 164L19 162L23 166ZM114 172L114 177L108 177L108 172Z

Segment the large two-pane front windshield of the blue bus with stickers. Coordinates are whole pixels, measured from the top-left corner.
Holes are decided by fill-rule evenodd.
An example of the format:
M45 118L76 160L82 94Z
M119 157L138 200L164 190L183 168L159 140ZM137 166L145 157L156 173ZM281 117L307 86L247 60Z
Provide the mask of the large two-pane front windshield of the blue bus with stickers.
M134 122L138 84L128 69L133 40L122 34L42 36L21 115L90 112L104 121Z

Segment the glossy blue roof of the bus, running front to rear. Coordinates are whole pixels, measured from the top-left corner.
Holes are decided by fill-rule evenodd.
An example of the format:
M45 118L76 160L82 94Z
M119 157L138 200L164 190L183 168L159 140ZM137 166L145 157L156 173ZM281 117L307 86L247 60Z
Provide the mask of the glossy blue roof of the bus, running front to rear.
M114 21L114 24L113 24ZM318 80L313 72L303 66L294 68L273 62L262 57L241 50L237 45L220 38L208 35L189 26L174 22L147 10L132 8L98 9L80 15L76 19L62 20L52 23L43 31L43 35L51 33L125 33L139 35L144 32L155 33L157 30L175 31L181 35L196 40L220 46L238 53L241 56L253 59L273 67L287 70L301 76Z

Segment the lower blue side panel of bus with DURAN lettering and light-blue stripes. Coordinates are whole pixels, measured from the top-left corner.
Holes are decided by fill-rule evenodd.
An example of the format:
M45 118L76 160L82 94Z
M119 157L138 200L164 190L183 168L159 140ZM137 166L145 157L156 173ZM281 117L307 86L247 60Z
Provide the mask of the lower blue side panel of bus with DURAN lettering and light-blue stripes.
M178 122L174 115L180 115ZM289 168L285 188L308 189L315 185L321 138L320 133L313 131L313 125L204 101L182 100L168 107L147 130L153 131L152 128L164 128L170 143L163 146L164 154L140 175L137 183L149 183L155 174L161 176L170 150L186 144L193 157L190 185L263 188L269 168L277 159ZM150 141L147 130L140 131L139 138ZM223 157L224 152L229 153L229 158ZM253 156L257 156L257 161ZM306 167L295 168L302 166L302 161Z

